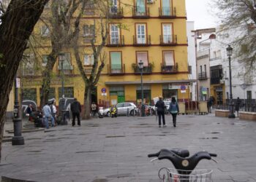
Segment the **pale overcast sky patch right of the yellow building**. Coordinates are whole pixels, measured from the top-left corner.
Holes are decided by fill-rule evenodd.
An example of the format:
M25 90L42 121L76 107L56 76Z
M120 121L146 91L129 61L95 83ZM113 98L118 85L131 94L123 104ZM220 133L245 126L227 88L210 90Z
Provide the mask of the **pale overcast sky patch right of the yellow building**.
M211 0L186 0L187 20L195 22L195 29L215 28L217 19L211 15Z

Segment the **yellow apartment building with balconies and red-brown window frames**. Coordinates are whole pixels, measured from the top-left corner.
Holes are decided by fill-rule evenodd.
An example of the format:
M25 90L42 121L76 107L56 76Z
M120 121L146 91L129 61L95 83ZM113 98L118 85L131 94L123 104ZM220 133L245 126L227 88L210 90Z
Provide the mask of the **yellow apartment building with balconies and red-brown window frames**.
M178 100L189 99L189 83L194 81L188 79L185 0L111 0L110 4L112 19L108 23L109 36L103 50L107 57L92 100L105 106L124 101L138 103L141 100L140 61L143 62L145 103L153 103L153 98L159 95L165 99L171 96L176 96ZM87 73L91 71L94 62L89 50L89 37L94 28L94 20L99 20L93 8L91 5L86 8L80 23L83 31L80 31L79 52ZM42 66L39 67L45 66L50 53L49 33L44 23L37 23L34 34L41 36L41 44L44 46L36 48L36 56L27 52L28 58L42 60ZM65 96L78 98L83 103L85 86L75 55L71 48L62 52L66 58ZM21 92L23 100L34 100L39 105L42 78L35 73L32 62L27 62L21 69ZM58 60L53 68L56 74L53 75L50 89L50 98L57 100L61 97L60 69Z

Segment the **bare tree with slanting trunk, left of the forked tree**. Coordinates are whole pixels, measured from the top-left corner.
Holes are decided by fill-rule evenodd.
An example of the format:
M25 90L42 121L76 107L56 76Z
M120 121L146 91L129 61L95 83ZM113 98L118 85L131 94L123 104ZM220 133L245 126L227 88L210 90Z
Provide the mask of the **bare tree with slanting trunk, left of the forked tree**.
M50 29L50 44L51 52L48 55L48 61L45 69L42 71L42 92L40 93L40 107L48 101L50 90L50 79L53 71L53 66L59 56L59 53L64 47L69 47L70 41L77 34L77 29L73 28L72 23L80 22L80 17L83 15L83 9L86 2L89 0L54 0L51 1L51 13L47 16L42 16L41 20ZM75 12L78 16L75 17Z

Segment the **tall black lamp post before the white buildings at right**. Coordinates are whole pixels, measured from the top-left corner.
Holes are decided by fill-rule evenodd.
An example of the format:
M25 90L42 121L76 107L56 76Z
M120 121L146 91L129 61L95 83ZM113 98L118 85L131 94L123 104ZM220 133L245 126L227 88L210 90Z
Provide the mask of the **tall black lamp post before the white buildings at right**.
M227 47L227 57L228 57L228 63L229 63L229 71L230 71L230 114L228 115L228 118L235 118L235 114L234 114L234 104L233 104L233 96L232 96L232 75L231 75L231 55L233 52L233 48L230 47L230 45L228 45Z

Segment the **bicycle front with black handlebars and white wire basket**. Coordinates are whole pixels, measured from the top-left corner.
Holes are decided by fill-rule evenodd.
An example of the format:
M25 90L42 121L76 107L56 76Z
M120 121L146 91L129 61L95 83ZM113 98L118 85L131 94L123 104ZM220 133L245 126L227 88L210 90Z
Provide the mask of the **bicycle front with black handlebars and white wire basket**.
M189 157L189 151L184 149L161 149L155 154L148 154L148 157L157 157L151 159L169 159L173 163L173 168L162 167L158 171L158 176L162 181L167 182L211 182L211 173L213 170L195 170L201 159L211 159L217 157L217 154L211 154L207 151L199 151ZM212 159L214 160L214 159ZM216 162L214 160L214 162Z

